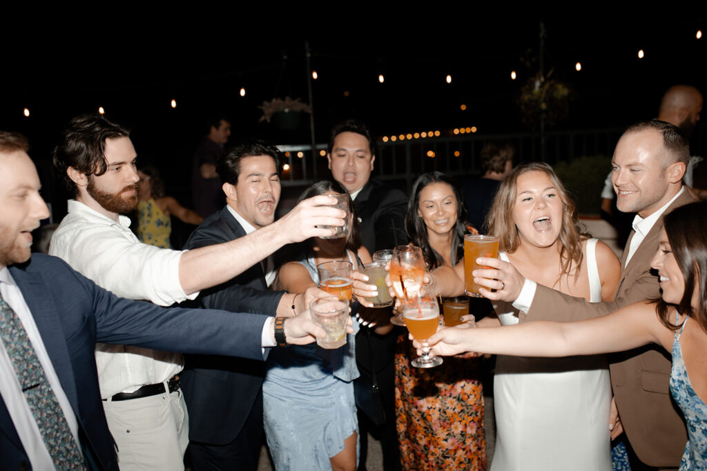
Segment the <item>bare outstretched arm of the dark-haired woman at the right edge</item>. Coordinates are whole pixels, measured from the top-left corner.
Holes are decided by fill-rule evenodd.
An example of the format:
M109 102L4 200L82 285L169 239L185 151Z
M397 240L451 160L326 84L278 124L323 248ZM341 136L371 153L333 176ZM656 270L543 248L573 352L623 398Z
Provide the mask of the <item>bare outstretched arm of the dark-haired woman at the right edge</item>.
M527 357L620 352L659 343L670 349L672 331L663 327L655 305L640 302L608 316L580 322L528 322L500 328L442 328L428 343L433 353L483 352ZM416 345L419 347L419 345Z

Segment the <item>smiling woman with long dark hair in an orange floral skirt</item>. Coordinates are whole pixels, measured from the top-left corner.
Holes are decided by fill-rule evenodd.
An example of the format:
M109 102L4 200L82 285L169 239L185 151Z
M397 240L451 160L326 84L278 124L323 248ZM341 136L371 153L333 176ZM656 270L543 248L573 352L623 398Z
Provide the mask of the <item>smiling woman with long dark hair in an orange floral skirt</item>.
M428 270L460 262L466 214L448 175L430 172L415 181L405 228ZM399 338L395 403L403 469L486 469L481 360L464 354L420 370L410 364L413 354L409 340Z

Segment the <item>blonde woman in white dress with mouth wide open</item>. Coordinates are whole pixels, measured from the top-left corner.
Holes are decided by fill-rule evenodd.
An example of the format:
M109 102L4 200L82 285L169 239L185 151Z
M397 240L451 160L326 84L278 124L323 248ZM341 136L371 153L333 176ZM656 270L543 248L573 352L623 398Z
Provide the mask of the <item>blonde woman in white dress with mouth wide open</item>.
M611 300L619 259L609 246L580 234L575 206L551 167L516 167L498 187L488 220L499 237L501 258L542 285L592 302ZM431 289L462 290L442 268ZM518 311L495 306L498 317L480 326L518 323ZM499 356L494 378L496 448L491 470L612 470L607 360L595 357L541 359Z

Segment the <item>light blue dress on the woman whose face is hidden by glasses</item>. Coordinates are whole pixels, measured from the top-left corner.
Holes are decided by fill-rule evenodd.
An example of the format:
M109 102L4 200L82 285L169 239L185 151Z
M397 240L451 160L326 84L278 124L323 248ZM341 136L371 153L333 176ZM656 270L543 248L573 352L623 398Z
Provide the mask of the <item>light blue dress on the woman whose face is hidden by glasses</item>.
M300 263L318 285L314 260ZM355 338L356 334L346 335L346 345L336 350L316 344L271 350L263 383L263 418L277 471L331 470L329 458L344 450L344 440L354 432L358 458Z

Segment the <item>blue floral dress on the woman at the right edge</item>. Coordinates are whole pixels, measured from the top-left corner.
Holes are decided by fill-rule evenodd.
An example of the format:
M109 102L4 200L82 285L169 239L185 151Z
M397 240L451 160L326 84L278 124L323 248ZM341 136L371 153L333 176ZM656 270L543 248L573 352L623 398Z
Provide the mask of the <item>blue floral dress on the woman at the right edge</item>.
M685 362L682 359L680 334L682 334L686 323L687 318L682 323L679 332L675 333L675 340L672 343L670 393L682 410L687 424L688 440L680 462L680 471L702 471L707 470L707 404L692 388Z

